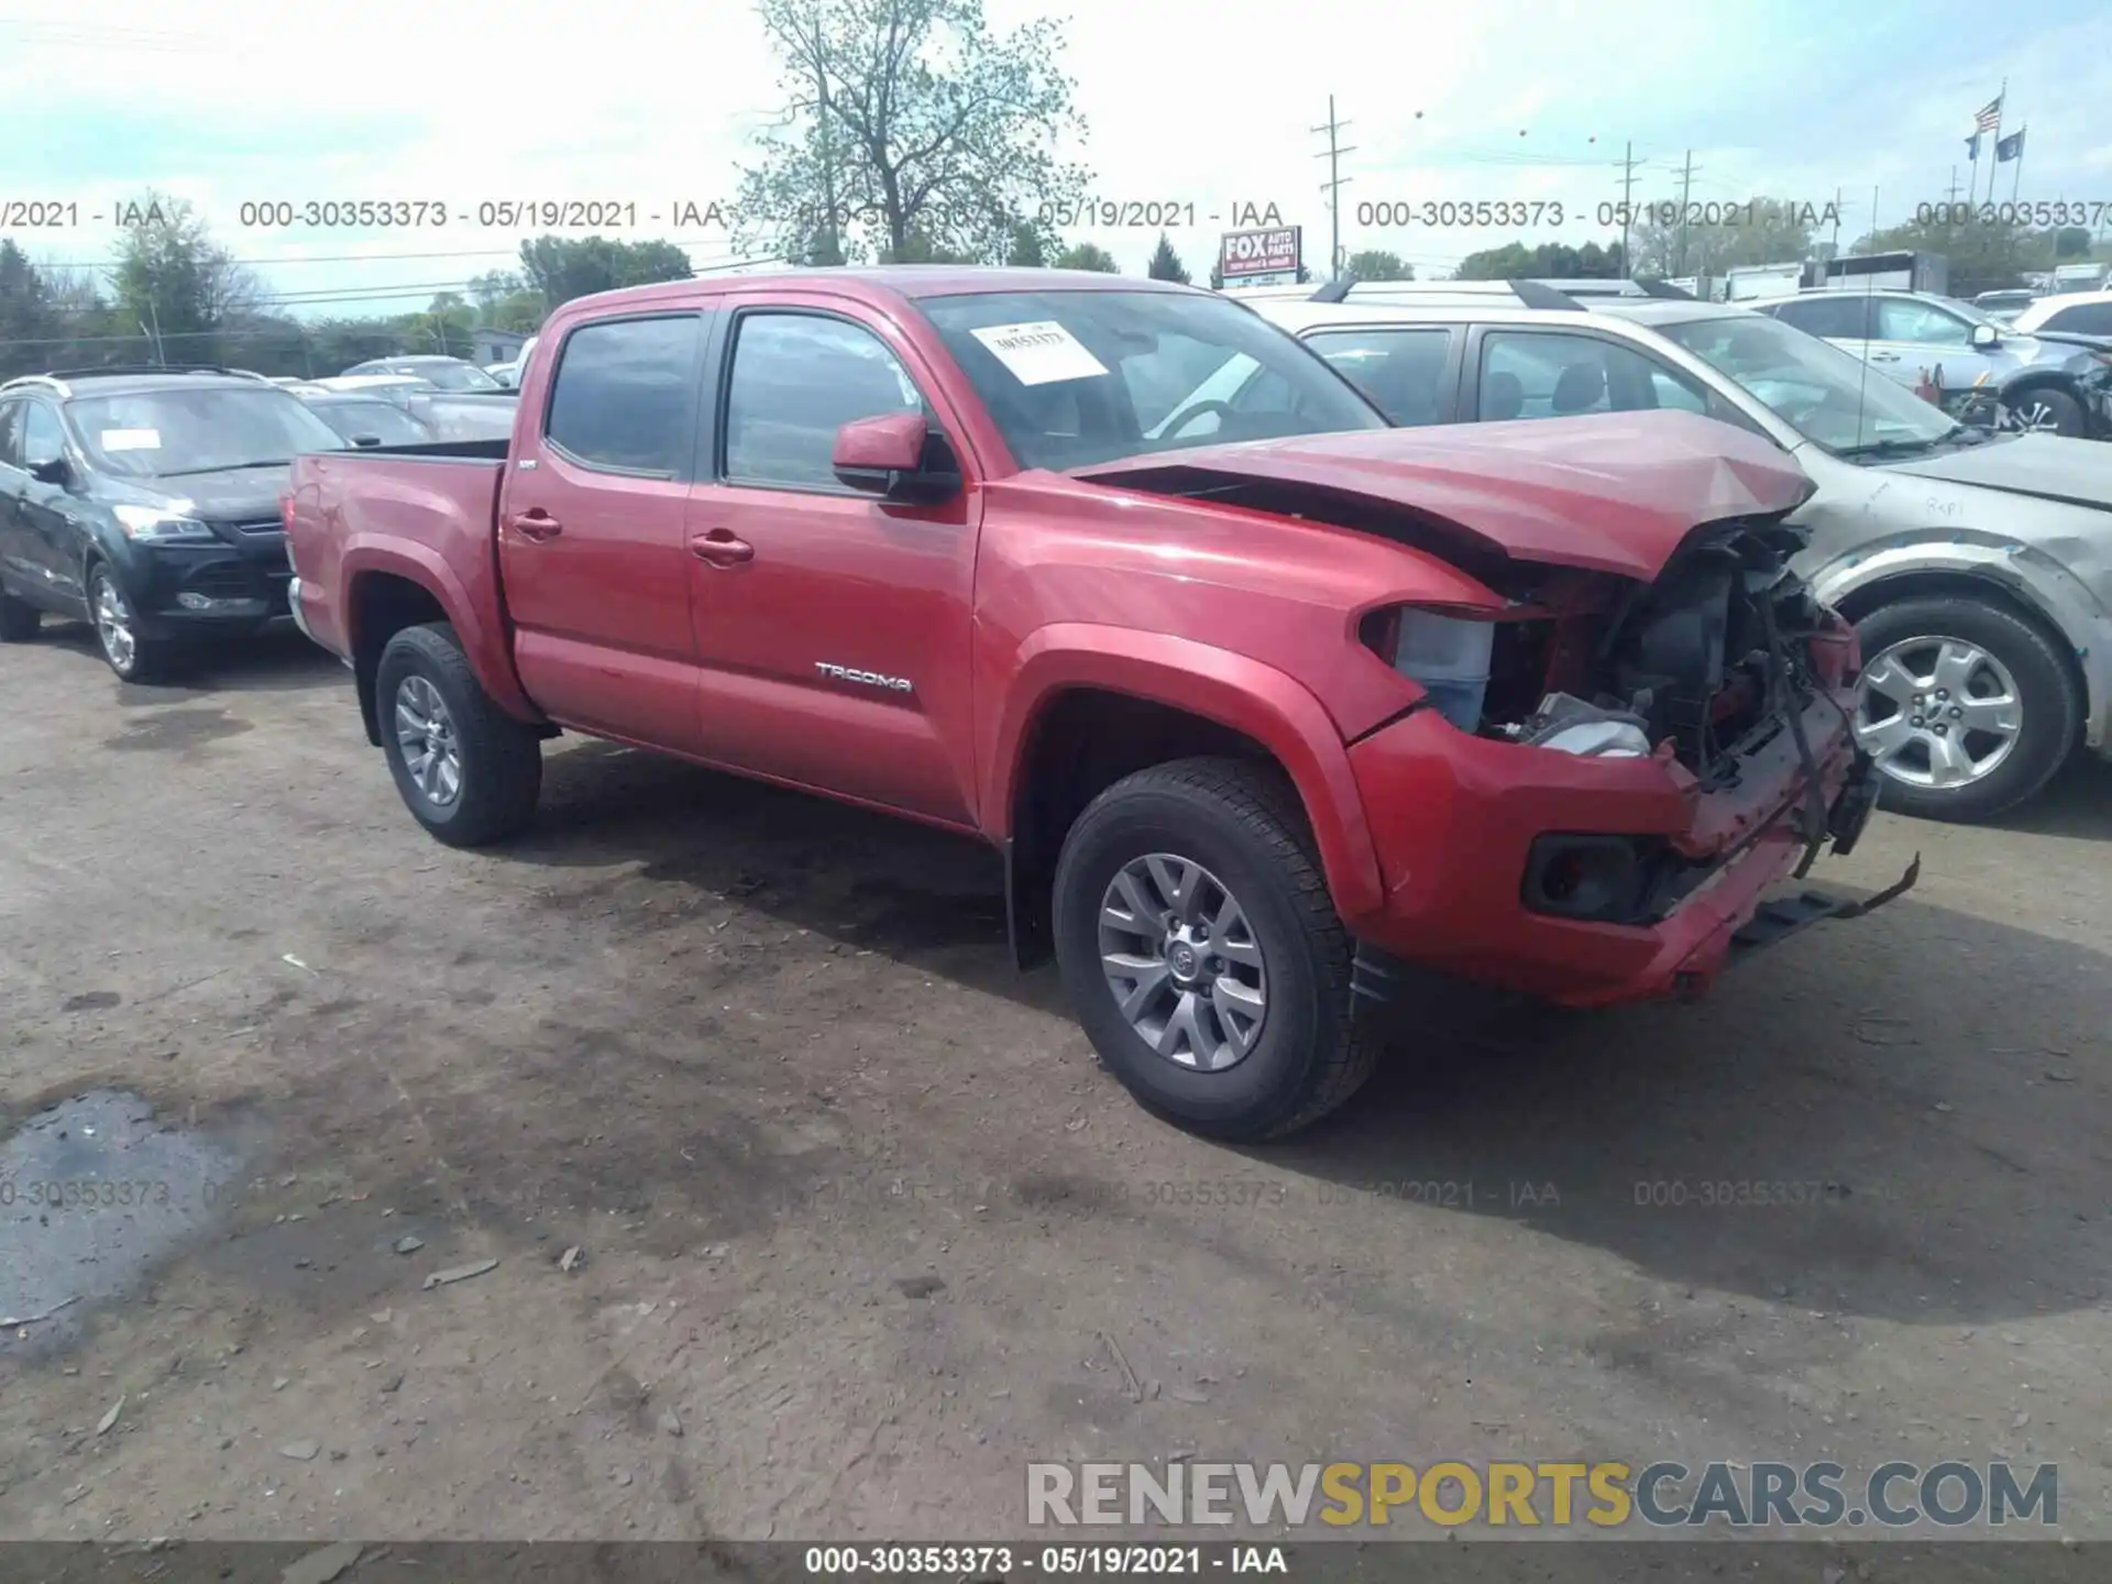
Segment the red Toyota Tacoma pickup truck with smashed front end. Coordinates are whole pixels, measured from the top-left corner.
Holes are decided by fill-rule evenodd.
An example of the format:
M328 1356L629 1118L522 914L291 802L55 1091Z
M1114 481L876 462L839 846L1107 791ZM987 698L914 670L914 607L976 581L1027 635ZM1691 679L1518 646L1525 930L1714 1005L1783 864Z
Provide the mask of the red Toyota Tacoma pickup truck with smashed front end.
M1390 429L1223 296L1067 270L631 287L543 346L511 441L285 496L444 843L520 832L560 731L972 832L1020 963L1227 1138L1356 1090L1404 959L1605 1005L1867 906L1761 904L1875 796L1764 439Z

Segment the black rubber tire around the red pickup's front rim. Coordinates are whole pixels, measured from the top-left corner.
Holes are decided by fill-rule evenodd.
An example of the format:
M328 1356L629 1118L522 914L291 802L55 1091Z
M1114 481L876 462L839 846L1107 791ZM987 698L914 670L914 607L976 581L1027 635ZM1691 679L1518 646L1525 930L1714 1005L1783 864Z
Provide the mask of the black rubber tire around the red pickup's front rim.
M1100 972L1100 906L1149 853L1202 864L1238 898L1267 974L1267 1012L1244 1058L1198 1071L1159 1056ZM1115 781L1071 826L1056 862L1054 936L1086 1037L1151 1113L1227 1140L1282 1138L1371 1077L1377 1039L1350 995L1354 946L1314 853L1297 792L1274 767L1185 758Z

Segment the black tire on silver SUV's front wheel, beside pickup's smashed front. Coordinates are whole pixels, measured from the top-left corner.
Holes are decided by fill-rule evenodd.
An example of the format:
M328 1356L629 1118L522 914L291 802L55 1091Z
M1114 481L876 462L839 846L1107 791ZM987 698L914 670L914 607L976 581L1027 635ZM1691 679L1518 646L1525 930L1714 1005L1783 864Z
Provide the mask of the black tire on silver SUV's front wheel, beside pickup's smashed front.
M1958 638L1987 650L2013 678L2023 720L2009 756L1987 775L1956 788L1911 786L1882 775L1878 807L1918 819L1973 824L2036 794L2074 752L2082 733L2082 695L2059 650L2030 621L1973 598L1901 600L1856 623L1865 667L1884 650L1920 638Z

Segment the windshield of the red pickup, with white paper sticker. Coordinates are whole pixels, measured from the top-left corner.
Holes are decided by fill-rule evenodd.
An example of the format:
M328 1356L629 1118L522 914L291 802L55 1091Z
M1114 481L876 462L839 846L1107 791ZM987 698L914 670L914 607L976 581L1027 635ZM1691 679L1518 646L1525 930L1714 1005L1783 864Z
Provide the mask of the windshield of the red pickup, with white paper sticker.
M925 298L1020 467L1276 435L1385 429L1347 380L1248 308L1174 291L988 291ZM1242 361L1225 397L1193 399ZM1238 399L1233 399L1238 397Z

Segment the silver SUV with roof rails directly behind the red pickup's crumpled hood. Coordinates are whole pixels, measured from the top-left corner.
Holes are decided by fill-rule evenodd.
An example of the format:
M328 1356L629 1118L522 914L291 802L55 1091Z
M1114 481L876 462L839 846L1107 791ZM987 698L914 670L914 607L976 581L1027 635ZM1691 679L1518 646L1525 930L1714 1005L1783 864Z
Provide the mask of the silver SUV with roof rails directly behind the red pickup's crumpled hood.
M1681 408L1795 456L1818 486L1791 517L1810 532L1797 570L1861 634L1856 735L1888 777L1884 807L1985 819L2078 741L2112 756L2112 446L1992 437L1747 308L1590 289L1614 296L1373 283L1252 306L1394 422ZM1210 403L1269 401L1240 363L1164 427L1202 437Z

